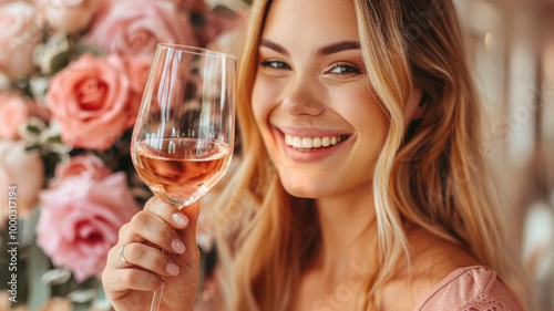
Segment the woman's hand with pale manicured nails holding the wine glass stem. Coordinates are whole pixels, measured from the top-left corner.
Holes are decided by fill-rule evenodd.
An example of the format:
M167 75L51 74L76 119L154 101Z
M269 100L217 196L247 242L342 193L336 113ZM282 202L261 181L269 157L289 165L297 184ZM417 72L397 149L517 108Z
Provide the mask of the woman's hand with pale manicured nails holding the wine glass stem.
M115 310L150 310L152 292L162 288L162 310L193 309L199 278L197 218L197 205L179 210L154 197L121 228L102 273Z

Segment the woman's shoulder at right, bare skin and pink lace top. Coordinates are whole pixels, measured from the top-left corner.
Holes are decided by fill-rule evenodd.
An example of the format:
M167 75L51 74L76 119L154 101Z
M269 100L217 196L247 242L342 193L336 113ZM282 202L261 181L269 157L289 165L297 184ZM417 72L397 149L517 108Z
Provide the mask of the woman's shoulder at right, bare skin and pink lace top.
M411 230L408 239L411 265L406 271L411 272L399 276L394 286L389 287L388 305L413 311L524 310L496 272L484 267L464 247L421 228ZM399 298L398 292L410 294Z

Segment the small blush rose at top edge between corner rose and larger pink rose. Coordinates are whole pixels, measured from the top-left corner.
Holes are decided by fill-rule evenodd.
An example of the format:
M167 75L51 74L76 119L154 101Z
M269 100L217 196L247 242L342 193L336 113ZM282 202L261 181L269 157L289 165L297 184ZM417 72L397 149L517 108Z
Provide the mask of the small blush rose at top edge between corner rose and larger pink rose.
M34 0L38 11L51 28L69 34L89 27L99 0Z

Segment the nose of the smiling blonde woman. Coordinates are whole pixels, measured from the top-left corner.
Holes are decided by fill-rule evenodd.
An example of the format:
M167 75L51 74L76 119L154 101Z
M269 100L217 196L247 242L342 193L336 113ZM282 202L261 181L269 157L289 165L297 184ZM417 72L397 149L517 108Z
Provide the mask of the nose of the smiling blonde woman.
M325 104L317 95L316 83L306 80L290 82L290 87L286 92L281 108L293 117L318 116L325 111Z

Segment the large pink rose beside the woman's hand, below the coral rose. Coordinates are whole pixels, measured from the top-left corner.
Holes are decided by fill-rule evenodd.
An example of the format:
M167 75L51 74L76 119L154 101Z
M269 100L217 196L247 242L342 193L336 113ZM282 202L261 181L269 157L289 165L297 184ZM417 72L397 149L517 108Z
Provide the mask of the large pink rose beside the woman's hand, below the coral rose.
M37 243L57 267L73 271L79 282L100 278L120 227L138 211L125 174L94 180L68 178L40 195L42 207Z

